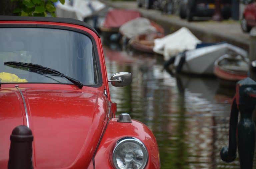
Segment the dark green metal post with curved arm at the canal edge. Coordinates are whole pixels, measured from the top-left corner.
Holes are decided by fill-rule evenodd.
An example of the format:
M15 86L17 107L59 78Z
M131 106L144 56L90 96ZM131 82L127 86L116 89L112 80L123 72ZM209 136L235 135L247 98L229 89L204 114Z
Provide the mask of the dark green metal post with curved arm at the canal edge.
M252 120L252 113L255 105L256 82L251 78L237 82L236 95L230 113L229 146L221 149L220 157L225 162L234 161L238 146L241 169L252 169L253 166L255 124ZM240 120L237 124L238 112L240 112Z

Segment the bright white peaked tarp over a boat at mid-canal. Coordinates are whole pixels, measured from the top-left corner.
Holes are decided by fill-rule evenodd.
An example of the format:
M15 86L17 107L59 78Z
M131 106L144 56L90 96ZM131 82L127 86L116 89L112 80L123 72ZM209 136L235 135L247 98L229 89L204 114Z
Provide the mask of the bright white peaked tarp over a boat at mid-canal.
M168 60L171 56L177 55L184 50L195 49L198 43L201 43L189 29L182 27L178 31L163 38L154 40L153 51L164 55Z

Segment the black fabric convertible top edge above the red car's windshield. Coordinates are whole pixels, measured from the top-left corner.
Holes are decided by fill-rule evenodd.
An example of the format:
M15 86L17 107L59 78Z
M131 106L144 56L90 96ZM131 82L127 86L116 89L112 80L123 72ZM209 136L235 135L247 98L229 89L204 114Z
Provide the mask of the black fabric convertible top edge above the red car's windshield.
M98 32L87 23L76 20L76 19L71 19L71 18L0 16L0 21L38 21L38 22L58 22L58 23L66 23L66 24L75 24L75 25L84 26L92 30L97 34L98 37L100 37Z

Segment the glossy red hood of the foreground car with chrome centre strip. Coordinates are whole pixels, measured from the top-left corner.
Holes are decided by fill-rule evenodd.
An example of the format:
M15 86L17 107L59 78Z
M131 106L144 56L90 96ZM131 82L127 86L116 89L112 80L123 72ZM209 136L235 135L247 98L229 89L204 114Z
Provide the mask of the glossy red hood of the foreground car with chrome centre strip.
M87 168L106 120L106 97L81 90L20 89L34 135L34 168ZM0 168L7 168L10 134L26 125L16 88L0 88Z

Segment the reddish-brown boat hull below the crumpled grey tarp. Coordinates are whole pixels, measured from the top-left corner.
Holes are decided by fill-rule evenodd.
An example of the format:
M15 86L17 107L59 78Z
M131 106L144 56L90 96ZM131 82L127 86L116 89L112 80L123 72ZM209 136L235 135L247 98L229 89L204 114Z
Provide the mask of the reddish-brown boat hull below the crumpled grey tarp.
M130 45L132 48L147 52L147 53L154 53L154 40L157 38L162 38L163 34L143 34L136 36L133 40L130 41Z

